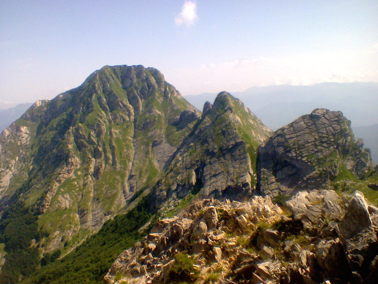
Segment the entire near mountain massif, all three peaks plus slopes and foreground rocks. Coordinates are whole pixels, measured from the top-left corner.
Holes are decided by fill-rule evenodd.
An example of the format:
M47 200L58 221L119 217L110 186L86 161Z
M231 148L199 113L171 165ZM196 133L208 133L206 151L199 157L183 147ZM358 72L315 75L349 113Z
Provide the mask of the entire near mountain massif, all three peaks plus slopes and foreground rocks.
M339 110L275 132L105 66L0 135L0 283L378 282L378 173Z

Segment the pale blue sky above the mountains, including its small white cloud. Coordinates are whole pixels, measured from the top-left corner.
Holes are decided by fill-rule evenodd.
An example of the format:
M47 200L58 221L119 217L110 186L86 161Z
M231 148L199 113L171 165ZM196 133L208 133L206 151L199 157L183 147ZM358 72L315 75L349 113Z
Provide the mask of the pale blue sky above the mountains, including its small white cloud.
M0 0L0 103L51 99L104 65L183 95L378 82L378 2Z

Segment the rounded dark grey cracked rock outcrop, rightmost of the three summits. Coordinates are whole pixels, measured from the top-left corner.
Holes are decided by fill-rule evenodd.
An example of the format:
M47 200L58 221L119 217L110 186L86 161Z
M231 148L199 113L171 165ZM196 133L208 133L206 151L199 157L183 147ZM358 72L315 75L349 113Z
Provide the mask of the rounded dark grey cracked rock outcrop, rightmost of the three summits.
M369 153L340 111L315 109L274 132L258 149L258 190L275 197L326 186L347 172L362 178Z

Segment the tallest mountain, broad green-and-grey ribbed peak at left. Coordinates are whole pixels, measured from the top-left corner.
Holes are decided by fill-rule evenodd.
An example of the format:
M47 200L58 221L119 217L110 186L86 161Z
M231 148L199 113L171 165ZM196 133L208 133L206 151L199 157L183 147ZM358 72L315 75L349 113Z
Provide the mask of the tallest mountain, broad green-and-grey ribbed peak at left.
M199 117L157 69L104 66L8 128L0 207L37 209L44 253L74 246L79 230L97 231L154 183Z

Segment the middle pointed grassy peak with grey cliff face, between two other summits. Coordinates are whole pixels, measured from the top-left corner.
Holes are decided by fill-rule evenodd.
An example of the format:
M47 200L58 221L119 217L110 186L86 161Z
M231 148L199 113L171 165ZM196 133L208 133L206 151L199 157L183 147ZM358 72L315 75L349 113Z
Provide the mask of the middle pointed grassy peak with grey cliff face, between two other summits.
M244 104L226 92L206 103L202 118L169 160L151 194L156 208L174 206L189 193L237 199L256 185L256 149L268 130Z

